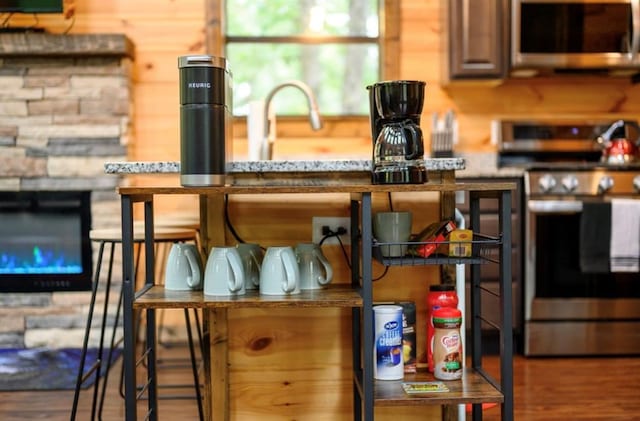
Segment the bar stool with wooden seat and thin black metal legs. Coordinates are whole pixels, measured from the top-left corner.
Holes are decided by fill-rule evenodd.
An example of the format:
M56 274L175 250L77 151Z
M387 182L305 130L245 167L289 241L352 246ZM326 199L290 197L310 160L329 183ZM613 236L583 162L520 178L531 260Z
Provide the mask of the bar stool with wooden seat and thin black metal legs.
M140 249L141 249L140 246L144 242L144 229L140 227L136 227L134 229L133 236L134 236L133 241L134 241L134 247L135 247L135 267L138 268L139 267L138 263L140 258ZM117 330L119 319L120 319L120 312L122 309L122 301L123 301L123 291L121 287L119 298L118 298L118 305L116 308L116 314L114 316L109 352L106 360L103 359L104 352L105 352L104 344L105 344L105 334L107 329L107 326L106 326L107 314L108 314L108 305L109 305L109 294L111 292L111 283L112 283L111 281L112 281L112 275L113 275L115 246L117 244L122 244L122 232L119 228L95 229L90 231L89 237L91 241L99 244L98 261L96 263L96 271L94 274L94 280L93 280L93 285L91 290L91 300L89 304L89 312L87 316L85 336L84 336L84 340L82 344L82 352L80 356L80 367L78 369L78 376L76 379L76 387L75 387L73 406L71 411L71 421L74 421L76 419L78 402L80 397L80 389L82 388L82 385L85 383L85 381L94 373L95 373L95 381L94 381L94 388L93 388L93 398L92 398L92 404L91 404L90 419L91 420L95 419L96 413L99 419L102 418L102 407L103 407L105 393L106 393L109 369L113 364L114 349L117 345L119 345L122 342L122 338L116 341L116 330ZM156 255L158 255L159 247L166 248L167 246L170 246L171 244L176 242L196 241L196 238L197 238L197 234L196 234L196 231L193 229L154 227L154 243L156 245L155 253ZM98 293L98 286L100 283L100 274L101 274L103 260L104 260L104 250L107 245L110 246L110 252L109 252L109 257L107 261L108 271L107 271L107 280L106 280L105 292L104 292L105 300L104 300L102 320L100 325L98 350L97 350L96 360L90 366L88 372L84 374L89 337L91 335L91 328L93 324L93 313L95 309L96 296ZM162 268L164 267L163 261L159 262L159 264L161 265L160 267ZM198 368L197 368L195 354L193 351L194 346L193 346L193 336L191 334L191 322L189 318L188 309L184 309L184 311L185 311L185 322L187 324L189 349L191 351L191 369L194 376L193 386L195 388L195 398L197 400L198 413L200 415L200 419L202 420L204 418L204 415L202 410L202 398L200 393L200 381L198 376ZM201 339L200 334L199 334L199 339ZM104 378L102 380L101 394L100 394L100 397L98 398L98 390L100 388L100 383L101 383L100 374L101 374L101 371L103 371L103 368L104 368ZM122 379L120 383L122 383Z

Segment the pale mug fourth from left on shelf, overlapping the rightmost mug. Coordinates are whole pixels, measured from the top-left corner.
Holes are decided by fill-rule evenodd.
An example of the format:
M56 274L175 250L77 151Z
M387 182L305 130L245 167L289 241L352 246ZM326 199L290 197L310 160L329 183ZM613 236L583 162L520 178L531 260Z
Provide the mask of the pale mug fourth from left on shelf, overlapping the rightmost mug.
M269 247L260 270L260 294L300 293L300 270L293 248Z

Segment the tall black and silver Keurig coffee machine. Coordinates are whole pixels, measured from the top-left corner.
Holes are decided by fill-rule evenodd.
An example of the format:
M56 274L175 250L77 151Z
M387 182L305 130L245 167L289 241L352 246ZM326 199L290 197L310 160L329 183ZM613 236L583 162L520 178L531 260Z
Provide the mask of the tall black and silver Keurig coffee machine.
M231 161L232 76L221 57L178 57L180 184L225 184Z

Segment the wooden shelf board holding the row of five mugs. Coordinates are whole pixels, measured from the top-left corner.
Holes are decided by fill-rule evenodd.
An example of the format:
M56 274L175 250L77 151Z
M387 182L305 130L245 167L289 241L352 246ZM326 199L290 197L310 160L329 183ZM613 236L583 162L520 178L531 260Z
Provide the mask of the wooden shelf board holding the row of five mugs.
M247 291L238 296L210 296L202 291L168 291L153 286L133 303L135 309L150 308L309 308L362 307L362 297L350 286L303 290L295 295L260 295Z

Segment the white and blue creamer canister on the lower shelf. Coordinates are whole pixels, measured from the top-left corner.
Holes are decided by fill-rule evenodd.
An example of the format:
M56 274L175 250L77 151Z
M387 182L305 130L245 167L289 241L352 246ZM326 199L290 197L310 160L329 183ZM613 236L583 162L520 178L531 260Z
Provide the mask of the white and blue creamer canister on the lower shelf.
M404 377L402 307L374 306L373 313L375 333L373 377L378 380L401 380Z

